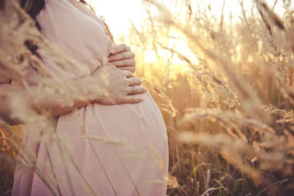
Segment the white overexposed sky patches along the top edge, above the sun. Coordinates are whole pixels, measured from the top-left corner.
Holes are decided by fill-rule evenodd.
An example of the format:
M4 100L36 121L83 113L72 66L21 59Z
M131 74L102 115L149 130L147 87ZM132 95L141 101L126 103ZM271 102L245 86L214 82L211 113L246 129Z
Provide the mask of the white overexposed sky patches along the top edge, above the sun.
M116 36L122 34L127 34L130 27L130 20L135 25L140 25L144 22L144 17L142 15L142 0L90 0L95 6L95 10L98 15L105 17L106 22L109 24L112 32ZM174 0L159 0L172 12L177 11L171 1ZM270 6L273 6L275 0L266 0ZM198 3L201 2L199 5ZM204 3L203 3L204 2ZM251 0L244 1L245 9L249 9L252 6ZM192 0L191 5L193 7L203 6L207 7L208 4L211 5L211 12L216 17L221 17L221 11L223 6L223 0ZM229 13L232 12L232 17L237 19L241 14L241 6L238 0L225 0L224 6L224 20L229 19ZM275 6L276 13L283 14L284 8L281 3L278 2Z

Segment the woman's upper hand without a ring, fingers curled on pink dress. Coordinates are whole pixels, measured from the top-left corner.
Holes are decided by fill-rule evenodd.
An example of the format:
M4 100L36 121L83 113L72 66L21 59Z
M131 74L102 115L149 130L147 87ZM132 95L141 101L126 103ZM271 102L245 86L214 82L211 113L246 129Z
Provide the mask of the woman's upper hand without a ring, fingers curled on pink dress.
M129 46L120 44L111 51L108 56L108 64L134 73L136 70L135 53L131 51Z

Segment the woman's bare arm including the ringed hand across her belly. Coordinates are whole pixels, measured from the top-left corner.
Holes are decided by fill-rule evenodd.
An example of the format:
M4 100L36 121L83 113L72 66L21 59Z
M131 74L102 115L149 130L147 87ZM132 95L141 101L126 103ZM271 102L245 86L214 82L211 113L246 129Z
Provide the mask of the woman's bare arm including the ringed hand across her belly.
M143 94L147 88L141 86L142 80L133 76L130 71L107 65L97 69L91 76L42 86L41 90L40 86L31 86L24 90L19 85L0 84L0 118L11 125L29 122L24 120L26 116L21 118L12 115L19 112L15 103L39 113L50 111L52 116L72 112L93 102L104 105L140 103L144 97L133 94ZM134 91L131 86L136 86L137 90ZM14 98L17 102L11 102Z

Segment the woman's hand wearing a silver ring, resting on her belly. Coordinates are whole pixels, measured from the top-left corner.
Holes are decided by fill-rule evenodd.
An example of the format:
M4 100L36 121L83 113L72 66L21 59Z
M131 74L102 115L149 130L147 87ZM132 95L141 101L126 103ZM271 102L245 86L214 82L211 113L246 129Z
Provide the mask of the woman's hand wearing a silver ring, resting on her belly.
M114 65L99 67L91 77L102 89L98 98L94 102L103 105L115 105L125 103L140 103L144 100L143 96L131 95L136 86L135 94L143 94L147 88L141 86L142 80L135 78L134 74L127 70L120 70Z

